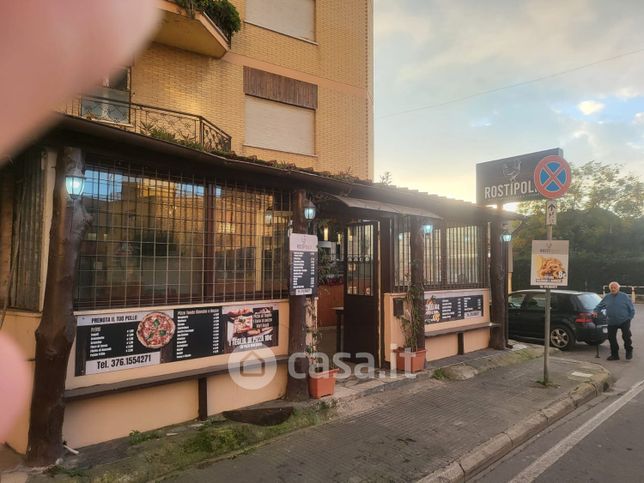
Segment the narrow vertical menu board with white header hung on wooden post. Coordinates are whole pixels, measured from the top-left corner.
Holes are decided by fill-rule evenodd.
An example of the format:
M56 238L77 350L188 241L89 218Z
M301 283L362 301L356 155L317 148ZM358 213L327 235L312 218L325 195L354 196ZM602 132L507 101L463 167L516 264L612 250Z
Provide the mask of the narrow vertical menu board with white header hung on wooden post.
M290 248L290 294L315 295L317 293L318 238L315 235L292 233Z

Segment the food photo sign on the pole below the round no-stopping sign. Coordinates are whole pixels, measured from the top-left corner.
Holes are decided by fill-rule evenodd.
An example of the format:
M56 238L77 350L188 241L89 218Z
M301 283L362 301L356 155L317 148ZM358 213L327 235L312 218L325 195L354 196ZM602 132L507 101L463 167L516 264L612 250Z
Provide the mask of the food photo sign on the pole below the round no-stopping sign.
M568 240L532 240L530 284L542 288L568 285Z

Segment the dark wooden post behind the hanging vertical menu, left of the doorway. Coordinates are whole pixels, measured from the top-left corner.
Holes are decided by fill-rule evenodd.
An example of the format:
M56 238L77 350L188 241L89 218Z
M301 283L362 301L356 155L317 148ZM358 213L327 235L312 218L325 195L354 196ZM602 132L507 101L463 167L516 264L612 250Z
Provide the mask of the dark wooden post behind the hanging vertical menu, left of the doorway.
M293 233L307 233L307 222L304 218L304 200L306 192L295 190L293 193ZM306 354L306 295L289 295L288 297L288 353ZM292 369L296 374L308 374L308 357L295 359ZM305 401L309 398L309 386L306 378L292 377L289 367L286 384L286 399L289 401Z

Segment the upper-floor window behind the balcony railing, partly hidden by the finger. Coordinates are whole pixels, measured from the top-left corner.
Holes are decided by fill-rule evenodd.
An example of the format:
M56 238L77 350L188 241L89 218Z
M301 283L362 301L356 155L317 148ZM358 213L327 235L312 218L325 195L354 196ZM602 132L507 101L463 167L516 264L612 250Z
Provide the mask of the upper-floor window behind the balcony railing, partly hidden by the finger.
M130 122L130 68L103 79L99 88L81 99L81 116L102 121Z

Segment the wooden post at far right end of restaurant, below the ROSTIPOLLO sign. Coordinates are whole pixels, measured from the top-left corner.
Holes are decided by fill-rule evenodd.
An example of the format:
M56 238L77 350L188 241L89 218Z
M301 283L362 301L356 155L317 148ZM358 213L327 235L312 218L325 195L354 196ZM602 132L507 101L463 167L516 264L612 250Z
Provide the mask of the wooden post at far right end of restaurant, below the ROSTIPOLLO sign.
M499 211L501 205L498 205ZM492 322L501 324L492 328L490 346L497 350L505 349L505 270L503 250L501 247L501 222L493 220L490 223L490 292L492 297Z

